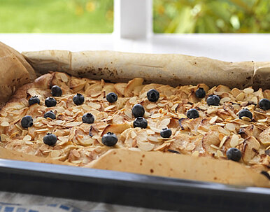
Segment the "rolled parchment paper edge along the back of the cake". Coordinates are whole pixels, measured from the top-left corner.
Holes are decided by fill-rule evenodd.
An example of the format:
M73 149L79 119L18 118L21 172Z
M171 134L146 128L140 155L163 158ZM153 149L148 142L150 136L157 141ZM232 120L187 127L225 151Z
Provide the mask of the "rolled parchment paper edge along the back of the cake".
M270 87L270 64L267 62L222 62L187 55L113 51L44 50L22 52L22 55L40 74L65 71L73 76L104 78L112 82L141 77L145 83L173 86L205 83L210 87L222 84L241 89L250 85L255 89Z

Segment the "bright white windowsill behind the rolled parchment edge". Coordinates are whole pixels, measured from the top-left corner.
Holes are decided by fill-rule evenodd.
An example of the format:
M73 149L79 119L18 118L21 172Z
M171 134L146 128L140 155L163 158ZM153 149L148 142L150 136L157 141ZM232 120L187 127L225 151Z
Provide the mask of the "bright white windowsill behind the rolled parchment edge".
M34 50L116 50L179 53L225 61L269 61L270 34L154 34L124 39L115 34L0 34L0 41L19 52Z

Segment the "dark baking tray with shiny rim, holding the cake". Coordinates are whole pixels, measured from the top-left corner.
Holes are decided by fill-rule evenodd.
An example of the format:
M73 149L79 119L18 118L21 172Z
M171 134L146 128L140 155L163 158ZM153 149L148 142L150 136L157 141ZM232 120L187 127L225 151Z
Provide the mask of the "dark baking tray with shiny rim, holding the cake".
M8 192L170 211L267 211L270 189L0 159Z

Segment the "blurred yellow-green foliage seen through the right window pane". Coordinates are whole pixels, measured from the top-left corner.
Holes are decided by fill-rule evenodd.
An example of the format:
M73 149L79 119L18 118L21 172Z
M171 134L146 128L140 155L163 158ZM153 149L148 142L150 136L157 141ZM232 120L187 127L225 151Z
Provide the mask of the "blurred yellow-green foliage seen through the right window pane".
M270 32L270 0L153 0L155 33Z

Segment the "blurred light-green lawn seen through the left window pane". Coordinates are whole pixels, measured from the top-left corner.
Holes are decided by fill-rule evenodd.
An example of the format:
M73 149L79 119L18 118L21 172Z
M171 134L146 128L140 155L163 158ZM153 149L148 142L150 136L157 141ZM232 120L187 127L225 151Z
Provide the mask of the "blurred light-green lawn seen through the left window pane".
M111 33L113 0L0 0L0 32Z

